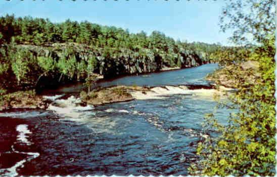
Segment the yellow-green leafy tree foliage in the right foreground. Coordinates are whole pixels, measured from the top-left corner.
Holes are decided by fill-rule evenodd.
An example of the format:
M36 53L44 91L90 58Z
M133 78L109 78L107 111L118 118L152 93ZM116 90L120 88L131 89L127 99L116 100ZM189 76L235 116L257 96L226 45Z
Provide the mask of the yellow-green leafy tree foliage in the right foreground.
M250 14L244 14L245 7L252 9ZM221 70L223 74L230 80L240 81L237 92L229 97L239 110L229 116L227 126L220 125L213 114L205 118L206 131L214 130L218 137L208 138L199 144L197 152L200 160L191 165L191 174L276 174L274 15L269 17L275 11L274 7L274 2L270 0L237 1L223 10L223 16L231 20L225 21L222 30L237 29L232 36L233 41L248 44L247 47L231 51L225 48L217 53L217 56L221 55L220 63L227 65ZM251 45L251 41L244 38L247 32L251 32L254 37L252 42L256 41L258 45ZM233 68L230 65L236 66L247 60L259 63L258 73L251 69L242 71L240 67L236 71L229 70ZM248 82L247 78L252 75L255 76L254 82Z

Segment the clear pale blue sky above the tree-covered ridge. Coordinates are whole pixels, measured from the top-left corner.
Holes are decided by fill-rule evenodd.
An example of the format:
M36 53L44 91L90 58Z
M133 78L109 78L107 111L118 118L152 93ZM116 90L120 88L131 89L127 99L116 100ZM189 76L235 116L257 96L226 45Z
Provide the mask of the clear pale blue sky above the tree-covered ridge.
M11 0L0 2L0 16L32 16L52 22L87 20L149 35L158 30L174 39L227 43L230 32L219 32L219 15L224 0Z

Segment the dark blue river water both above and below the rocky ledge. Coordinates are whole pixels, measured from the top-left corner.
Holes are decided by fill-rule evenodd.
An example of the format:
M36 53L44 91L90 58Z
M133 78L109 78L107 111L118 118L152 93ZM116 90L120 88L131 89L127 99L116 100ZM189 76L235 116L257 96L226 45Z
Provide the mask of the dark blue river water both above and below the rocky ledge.
M216 67L101 84L203 85L207 84L203 77ZM204 114L213 112L216 104L207 97L171 95L101 105L72 116L11 110L0 114L0 175L188 175L187 168L197 160L197 143L203 139ZM216 112L221 123L228 114L226 109Z

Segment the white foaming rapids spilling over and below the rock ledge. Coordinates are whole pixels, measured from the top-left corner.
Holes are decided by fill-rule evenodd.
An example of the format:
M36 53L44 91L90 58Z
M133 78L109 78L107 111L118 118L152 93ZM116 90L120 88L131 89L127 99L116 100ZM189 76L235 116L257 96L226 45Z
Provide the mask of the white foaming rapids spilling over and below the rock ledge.
M221 88L221 90L224 90ZM130 94L135 99L164 99L166 96L174 95L174 94L183 94L183 95L192 95L194 98L207 98L213 99L214 94L222 94L221 91L216 89L196 89L189 90L186 86L165 86L165 87L153 87L149 91L130 91ZM110 133L117 134L117 131L112 131L113 128L118 124L117 117L98 117L96 116L96 110L94 110L93 105L81 106L81 99L76 98L74 96L70 96L67 99L56 99L52 104L49 105L48 110L52 110L53 112L62 116L63 120L73 121L79 124L85 124L89 129L93 130L94 133ZM132 106L133 107L133 106ZM137 110L126 110L126 109L114 109L108 108L104 110L105 112L120 112L120 113L131 113L136 115L145 115L143 112L138 112ZM147 121L155 126L157 129L165 132L162 128L163 122L160 122L159 117L151 116L147 119ZM88 123L93 124L88 124ZM102 127L101 130L97 127ZM171 130L168 130L169 132ZM196 136L191 133L192 136ZM204 138L206 138L204 136Z

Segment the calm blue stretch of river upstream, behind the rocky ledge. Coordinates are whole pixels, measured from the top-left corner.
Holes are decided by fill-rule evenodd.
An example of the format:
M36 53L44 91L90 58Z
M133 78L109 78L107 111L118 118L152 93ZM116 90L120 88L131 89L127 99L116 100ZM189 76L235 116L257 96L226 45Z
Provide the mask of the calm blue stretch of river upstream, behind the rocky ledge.
M163 85L208 85L204 78L218 68L217 64L202 65L200 67L151 73L138 76L126 76L110 81L102 81L95 87L108 87L113 85L163 86ZM82 84L74 84L56 89L55 92L79 92Z

